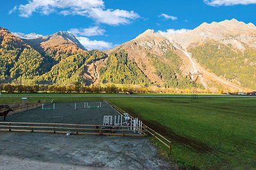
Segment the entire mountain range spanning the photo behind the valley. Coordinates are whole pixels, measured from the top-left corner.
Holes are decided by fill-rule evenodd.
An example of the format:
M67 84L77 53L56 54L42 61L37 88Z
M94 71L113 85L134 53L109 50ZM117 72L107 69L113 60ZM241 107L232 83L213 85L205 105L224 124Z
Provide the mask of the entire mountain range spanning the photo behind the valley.
M256 27L232 19L184 32L148 29L105 52L86 50L67 31L42 36L1 27L0 64L4 83L191 89L192 79L211 92L255 90Z

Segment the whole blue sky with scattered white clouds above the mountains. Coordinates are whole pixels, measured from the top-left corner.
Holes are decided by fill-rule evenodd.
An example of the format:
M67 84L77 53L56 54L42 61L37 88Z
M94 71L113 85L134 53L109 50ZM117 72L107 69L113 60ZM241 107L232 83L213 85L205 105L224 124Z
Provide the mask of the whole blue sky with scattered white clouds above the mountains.
M0 26L51 35L69 31L88 50L106 50L147 29L184 32L236 18L256 25L256 0L1 0Z

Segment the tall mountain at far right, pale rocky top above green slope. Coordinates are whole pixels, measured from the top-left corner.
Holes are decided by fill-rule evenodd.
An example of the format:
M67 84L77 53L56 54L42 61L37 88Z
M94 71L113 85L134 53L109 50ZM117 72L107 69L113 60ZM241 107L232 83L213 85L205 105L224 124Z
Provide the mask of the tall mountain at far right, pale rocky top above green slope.
M256 89L256 27L235 19L204 23L196 29L164 37L190 52L209 84Z

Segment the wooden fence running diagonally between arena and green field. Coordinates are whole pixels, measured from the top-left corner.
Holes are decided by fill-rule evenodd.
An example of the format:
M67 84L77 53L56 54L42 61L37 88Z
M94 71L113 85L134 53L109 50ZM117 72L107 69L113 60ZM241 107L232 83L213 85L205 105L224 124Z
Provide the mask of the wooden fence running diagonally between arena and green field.
M124 110L118 108L117 106L115 106L115 104L113 103L109 103L108 101L105 101L108 104L110 104L116 111L118 111L118 113L120 113L121 115L123 115L125 113ZM131 118L133 118L130 115ZM143 127L145 127L147 129L147 133L152 135L154 137L154 139L157 139L158 141L160 141L161 143L163 143L164 146L166 146L169 151L170 154L172 153L172 141L168 140L167 138L165 138L164 136L162 136L161 134L157 133L156 131L154 131L153 129L151 129L150 127L148 127L147 125L143 124Z

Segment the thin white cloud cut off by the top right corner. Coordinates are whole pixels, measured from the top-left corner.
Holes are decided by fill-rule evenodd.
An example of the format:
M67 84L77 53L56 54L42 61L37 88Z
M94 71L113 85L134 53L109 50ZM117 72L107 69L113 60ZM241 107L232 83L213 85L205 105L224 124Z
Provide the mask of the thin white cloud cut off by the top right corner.
M204 0L206 4L211 6L230 6L236 4L256 4L256 0Z

